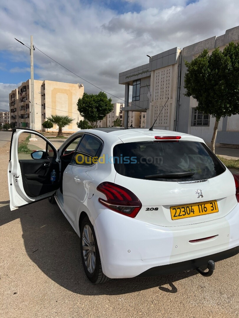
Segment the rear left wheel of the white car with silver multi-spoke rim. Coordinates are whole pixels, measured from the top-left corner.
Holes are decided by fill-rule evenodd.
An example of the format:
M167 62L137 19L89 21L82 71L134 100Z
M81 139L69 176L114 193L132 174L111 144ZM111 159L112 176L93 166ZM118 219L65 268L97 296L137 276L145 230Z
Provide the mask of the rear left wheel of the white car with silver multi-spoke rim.
M91 283L101 284L110 280L102 271L94 227L88 217L81 222L80 245L84 271Z

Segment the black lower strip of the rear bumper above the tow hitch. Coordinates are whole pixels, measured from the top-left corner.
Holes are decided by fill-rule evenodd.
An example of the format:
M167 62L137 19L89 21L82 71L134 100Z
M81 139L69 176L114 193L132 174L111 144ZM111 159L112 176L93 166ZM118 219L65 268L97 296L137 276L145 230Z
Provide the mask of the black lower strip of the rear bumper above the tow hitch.
M159 276L159 275L167 275L171 273L177 273L181 271L186 271L189 269L198 268L201 266L207 265L209 260L213 260L214 262L218 262L222 259L227 259L229 257L235 256L239 253L239 246L231 248L227 251L215 253L212 255L200 257L198 259L190 259L184 262L174 263L170 265L162 265L149 268L147 271L138 275L138 277L151 277L151 276Z

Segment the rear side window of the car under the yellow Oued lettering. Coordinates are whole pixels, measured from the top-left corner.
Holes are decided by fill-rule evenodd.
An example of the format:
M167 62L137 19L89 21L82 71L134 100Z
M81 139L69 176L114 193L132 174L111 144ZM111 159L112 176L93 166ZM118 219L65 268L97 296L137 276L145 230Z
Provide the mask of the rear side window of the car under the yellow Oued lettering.
M76 153L74 154L71 163L91 166L98 161L98 157L101 155L102 149L103 143L100 139L92 135L85 134L76 149Z

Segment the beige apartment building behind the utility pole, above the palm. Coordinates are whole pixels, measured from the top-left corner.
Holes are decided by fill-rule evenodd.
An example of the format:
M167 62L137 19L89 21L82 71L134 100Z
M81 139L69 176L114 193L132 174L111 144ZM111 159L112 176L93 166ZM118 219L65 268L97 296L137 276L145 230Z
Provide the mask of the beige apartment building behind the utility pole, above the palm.
M65 132L76 132L79 128L77 121L83 119L77 110L77 101L83 96L82 84L71 84L54 81L34 80L34 113L35 130L45 131L42 123L52 114L68 115L74 118L69 126L63 128ZM31 103L31 80L28 79L17 89L9 94L11 122L16 127L30 128L30 103ZM57 131L54 125L48 131Z

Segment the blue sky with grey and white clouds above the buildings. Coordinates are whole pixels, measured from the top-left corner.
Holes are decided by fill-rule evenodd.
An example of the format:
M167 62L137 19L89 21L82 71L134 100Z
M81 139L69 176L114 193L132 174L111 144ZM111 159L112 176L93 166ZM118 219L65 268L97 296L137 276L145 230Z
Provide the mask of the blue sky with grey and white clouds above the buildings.
M239 24L238 0L7 0L0 4L0 108L30 78L33 43L83 79L119 99L118 76L175 46L220 36ZM83 83L98 89L34 51L34 78ZM111 97L110 95L108 95Z

